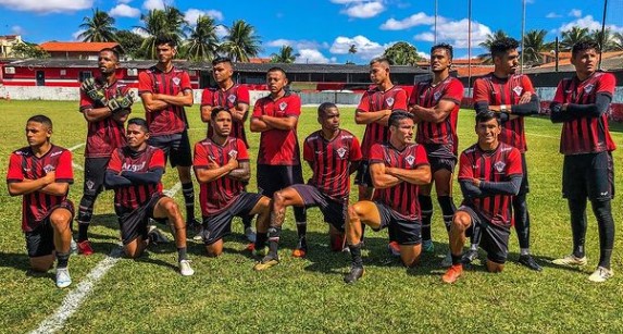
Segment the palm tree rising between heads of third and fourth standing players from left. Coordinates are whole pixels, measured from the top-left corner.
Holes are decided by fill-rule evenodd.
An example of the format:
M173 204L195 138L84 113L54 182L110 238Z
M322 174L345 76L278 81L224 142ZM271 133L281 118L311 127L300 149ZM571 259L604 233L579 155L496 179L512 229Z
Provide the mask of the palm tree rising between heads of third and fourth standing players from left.
M233 61L249 62L250 57L257 57L261 51L256 28L244 20L234 21L232 27L227 28L224 40L221 50Z

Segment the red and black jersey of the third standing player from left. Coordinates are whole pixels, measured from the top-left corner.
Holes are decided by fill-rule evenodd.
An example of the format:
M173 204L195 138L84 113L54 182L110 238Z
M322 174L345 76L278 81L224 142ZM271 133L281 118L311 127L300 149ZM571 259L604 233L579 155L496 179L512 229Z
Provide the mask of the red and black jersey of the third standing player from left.
M227 89L205 88L201 95L201 107L223 107L235 109L238 103L249 104L249 88L242 85L234 85ZM245 134L245 123L233 120L230 137L239 138L249 148L247 135ZM208 125L208 138L212 137L212 128Z

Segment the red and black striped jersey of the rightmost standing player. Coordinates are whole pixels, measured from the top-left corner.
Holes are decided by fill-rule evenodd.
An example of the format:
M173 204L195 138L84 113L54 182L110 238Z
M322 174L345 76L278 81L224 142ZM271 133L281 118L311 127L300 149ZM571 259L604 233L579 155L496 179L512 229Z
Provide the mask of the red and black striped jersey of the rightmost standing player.
M581 82L577 76L564 78L558 84L553 102L591 104L597 94L614 95L615 78L611 73L595 72ZM616 148L608 129L608 115L581 117L562 125L560 152L583 154L613 151Z

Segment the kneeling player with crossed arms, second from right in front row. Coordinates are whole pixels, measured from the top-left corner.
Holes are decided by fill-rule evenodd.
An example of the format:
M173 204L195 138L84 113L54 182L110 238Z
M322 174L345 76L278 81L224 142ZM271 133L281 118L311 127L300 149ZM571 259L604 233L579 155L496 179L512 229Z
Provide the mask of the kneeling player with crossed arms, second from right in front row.
M344 281L353 283L363 275L361 259L362 224L374 231L387 227L400 245L400 258L414 265L422 250L421 212L418 193L431 183L431 166L422 145L412 144L413 115L395 111L389 116L389 141L370 150L370 174L374 201L360 200L348 208L346 238L352 265Z

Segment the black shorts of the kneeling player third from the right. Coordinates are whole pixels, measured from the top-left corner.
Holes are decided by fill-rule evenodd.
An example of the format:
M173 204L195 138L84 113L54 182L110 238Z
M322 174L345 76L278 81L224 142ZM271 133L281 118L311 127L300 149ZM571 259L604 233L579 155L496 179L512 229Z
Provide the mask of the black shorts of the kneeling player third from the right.
M348 198L335 200L311 185L297 184L294 185L292 188L299 193L306 208L319 207L324 217L324 221L340 232L344 232L344 223L346 222L348 211Z

